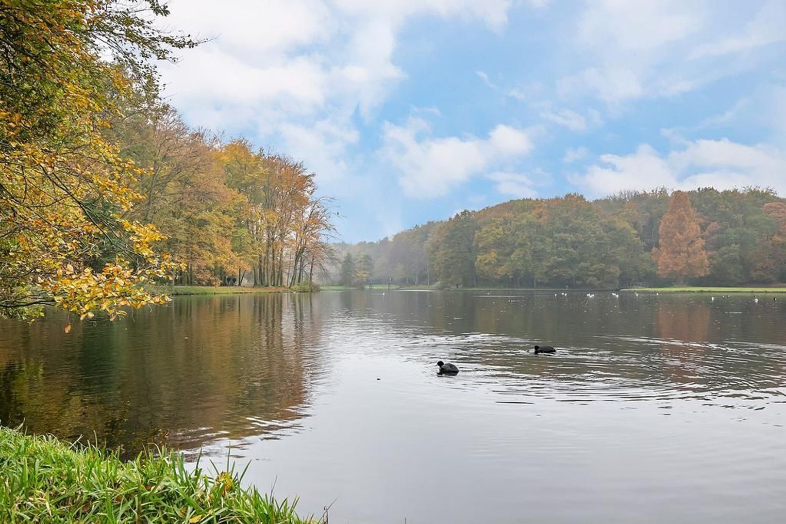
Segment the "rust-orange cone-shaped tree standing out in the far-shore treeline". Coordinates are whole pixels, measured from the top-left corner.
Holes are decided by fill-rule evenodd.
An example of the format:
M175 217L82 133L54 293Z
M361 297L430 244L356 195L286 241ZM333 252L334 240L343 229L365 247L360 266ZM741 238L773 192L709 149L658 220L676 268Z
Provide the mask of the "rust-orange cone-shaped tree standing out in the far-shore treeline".
M703 277L710 272L699 215L691 206L688 193L671 194L669 208L660 220L659 237L660 247L652 249L652 258L660 277L685 284L690 277Z

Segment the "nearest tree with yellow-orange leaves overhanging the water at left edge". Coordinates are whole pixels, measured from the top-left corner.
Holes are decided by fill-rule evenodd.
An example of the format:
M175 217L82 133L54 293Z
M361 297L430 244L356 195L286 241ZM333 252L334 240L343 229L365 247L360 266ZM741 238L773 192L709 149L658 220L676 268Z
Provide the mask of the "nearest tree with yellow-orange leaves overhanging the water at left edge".
M178 265L125 218L146 173L102 134L117 100L155 89L149 60L196 43L157 29L165 15L157 0L0 0L0 314L166 300L144 284Z

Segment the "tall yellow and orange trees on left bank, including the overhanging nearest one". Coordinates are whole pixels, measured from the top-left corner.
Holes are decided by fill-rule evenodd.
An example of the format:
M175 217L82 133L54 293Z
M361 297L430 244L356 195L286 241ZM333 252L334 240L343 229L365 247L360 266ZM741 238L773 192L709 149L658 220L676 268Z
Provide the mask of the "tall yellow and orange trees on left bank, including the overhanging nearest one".
M302 163L186 126L160 2L0 2L0 314L166 302L149 284L309 287L332 236Z

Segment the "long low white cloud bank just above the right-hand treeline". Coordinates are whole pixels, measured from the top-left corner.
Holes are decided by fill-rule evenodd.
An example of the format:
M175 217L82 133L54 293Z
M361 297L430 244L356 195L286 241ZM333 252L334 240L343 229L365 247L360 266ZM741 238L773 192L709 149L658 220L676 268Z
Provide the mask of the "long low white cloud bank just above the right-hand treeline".
M668 156L659 155L646 144L630 155L602 155L601 164L572 176L571 182L592 196L662 186L671 189L760 186L786 194L786 155L776 148L743 145L725 138L684 144L685 148Z

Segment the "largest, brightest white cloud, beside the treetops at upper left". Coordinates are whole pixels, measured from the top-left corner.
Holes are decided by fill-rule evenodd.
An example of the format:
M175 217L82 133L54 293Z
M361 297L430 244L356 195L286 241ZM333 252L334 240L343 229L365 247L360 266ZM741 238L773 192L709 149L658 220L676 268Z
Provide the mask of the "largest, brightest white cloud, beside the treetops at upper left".
M326 178L347 170L370 119L406 72L393 63L414 16L507 24L509 0L171 0L167 24L210 38L163 64L167 97L215 129L256 130Z

